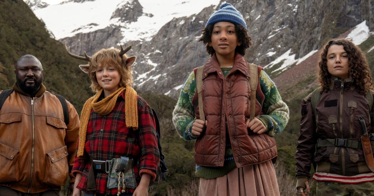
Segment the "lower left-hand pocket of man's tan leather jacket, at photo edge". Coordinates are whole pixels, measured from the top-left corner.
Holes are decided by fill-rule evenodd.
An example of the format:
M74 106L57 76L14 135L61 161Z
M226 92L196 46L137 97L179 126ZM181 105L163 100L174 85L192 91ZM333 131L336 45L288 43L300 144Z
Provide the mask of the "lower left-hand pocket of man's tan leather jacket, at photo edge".
M19 181L19 151L0 142L0 183Z

